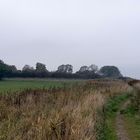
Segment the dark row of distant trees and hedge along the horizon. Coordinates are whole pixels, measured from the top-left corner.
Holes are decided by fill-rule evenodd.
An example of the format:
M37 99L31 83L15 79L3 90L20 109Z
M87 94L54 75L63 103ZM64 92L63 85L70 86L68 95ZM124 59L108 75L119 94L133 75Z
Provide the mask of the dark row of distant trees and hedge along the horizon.
M50 72L43 63L36 63L36 68L25 65L22 70L18 70L15 65L5 64L0 60L0 79L7 77L23 77L23 78L118 78L122 77L121 72L115 66L103 66L101 69L96 65L81 66L79 71L73 73L73 66L70 64L60 65L56 71Z

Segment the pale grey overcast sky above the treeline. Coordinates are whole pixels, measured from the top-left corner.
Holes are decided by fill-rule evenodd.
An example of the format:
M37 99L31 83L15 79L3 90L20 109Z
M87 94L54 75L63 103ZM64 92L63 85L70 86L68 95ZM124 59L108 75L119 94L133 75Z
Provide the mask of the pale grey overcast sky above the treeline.
M0 59L116 65L140 78L139 0L0 0Z

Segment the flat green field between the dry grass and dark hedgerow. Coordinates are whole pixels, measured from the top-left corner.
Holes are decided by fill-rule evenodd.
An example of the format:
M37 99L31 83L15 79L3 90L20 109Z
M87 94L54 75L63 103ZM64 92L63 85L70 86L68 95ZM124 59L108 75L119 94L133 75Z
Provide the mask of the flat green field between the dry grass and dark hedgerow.
M22 91L24 89L42 89L70 86L82 82L80 80L55 79L4 79L0 81L0 93Z

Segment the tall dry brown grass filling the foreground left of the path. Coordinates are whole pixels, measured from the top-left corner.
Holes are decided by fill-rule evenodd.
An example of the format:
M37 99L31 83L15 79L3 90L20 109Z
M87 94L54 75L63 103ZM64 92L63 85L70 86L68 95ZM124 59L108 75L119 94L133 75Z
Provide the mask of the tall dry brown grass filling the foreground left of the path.
M0 140L96 140L98 110L107 97L130 90L121 81L0 96Z

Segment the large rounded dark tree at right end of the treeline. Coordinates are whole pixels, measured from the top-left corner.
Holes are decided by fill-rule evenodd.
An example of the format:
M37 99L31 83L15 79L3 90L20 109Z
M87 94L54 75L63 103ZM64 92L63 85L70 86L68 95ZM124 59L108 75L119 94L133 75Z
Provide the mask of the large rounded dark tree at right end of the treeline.
M115 66L104 66L100 69L104 77L122 77L120 70Z

